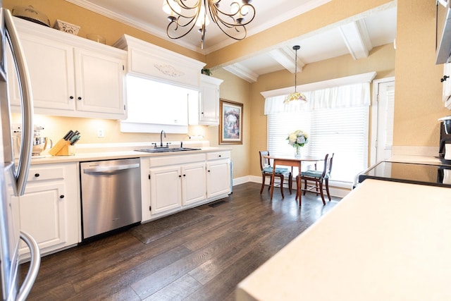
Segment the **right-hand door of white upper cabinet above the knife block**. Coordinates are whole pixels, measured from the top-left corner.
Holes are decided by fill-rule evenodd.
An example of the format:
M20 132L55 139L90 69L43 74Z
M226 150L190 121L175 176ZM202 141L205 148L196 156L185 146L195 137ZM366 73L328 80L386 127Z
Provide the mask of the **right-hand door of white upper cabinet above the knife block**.
M77 110L124 115L123 66L122 59L75 49Z

